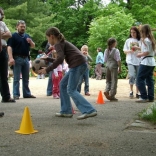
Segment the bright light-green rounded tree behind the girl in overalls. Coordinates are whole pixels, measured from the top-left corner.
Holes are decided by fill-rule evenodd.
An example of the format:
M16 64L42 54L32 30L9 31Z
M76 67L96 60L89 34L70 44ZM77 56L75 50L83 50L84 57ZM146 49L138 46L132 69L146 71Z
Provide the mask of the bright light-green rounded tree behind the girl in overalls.
M100 16L90 24L89 47L92 51L96 51L97 47L101 47L104 50L107 48L108 38L114 37L118 41L118 49L121 52L121 57L125 58L122 52L123 45L135 19L133 19L131 14L125 14L124 10L115 4L110 4L107 8L104 8L103 12L107 16Z

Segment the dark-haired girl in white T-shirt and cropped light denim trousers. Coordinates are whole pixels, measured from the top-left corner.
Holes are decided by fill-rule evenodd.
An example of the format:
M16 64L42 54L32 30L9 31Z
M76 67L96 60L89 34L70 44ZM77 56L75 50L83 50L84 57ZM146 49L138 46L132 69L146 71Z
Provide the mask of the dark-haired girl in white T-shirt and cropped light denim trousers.
M133 85L136 83L136 77L139 69L140 58L138 58L137 50L132 48L134 45L139 47L140 44L140 32L137 27L131 27L129 38L124 44L123 51L126 54L126 63L128 66L128 76L130 84L130 94L129 97L133 98ZM136 98L139 98L139 91L136 87Z

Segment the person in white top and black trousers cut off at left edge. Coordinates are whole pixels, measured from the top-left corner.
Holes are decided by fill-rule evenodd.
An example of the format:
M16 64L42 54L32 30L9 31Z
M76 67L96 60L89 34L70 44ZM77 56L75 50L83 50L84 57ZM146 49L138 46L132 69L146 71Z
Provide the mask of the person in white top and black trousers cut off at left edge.
M2 96L2 102L15 102L11 98L10 89L8 85L8 54L7 54L7 42L6 40L11 37L6 24L3 22L4 11L0 8L0 25L1 25L1 50L0 50L0 92Z

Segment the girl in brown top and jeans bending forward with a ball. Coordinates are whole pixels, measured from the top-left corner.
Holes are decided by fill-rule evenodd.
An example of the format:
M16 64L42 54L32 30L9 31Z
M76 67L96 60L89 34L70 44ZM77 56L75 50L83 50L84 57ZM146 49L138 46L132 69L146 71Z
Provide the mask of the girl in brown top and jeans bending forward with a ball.
M63 34L56 27L51 27L46 31L48 42L54 45L57 52L57 59L45 58L53 62L49 67L41 69L40 74L46 74L62 64L64 59L69 65L69 72L65 74L60 82L61 111L56 113L57 117L72 117L72 105L70 97L73 99L82 115L77 119L86 119L97 115L95 108L77 91L79 79L87 70L86 58L81 51L72 43L64 39Z

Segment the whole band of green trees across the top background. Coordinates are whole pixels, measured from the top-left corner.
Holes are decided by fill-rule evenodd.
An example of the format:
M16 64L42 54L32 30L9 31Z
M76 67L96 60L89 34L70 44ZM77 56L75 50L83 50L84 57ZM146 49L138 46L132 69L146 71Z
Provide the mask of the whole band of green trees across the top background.
M27 32L36 43L31 55L36 57L44 49L45 31L57 26L67 40L80 48L89 44L90 54L95 59L96 48L107 47L109 37L118 40L122 60L123 44L129 28L135 22L148 23L155 28L155 0L111 0L105 5L102 0L0 0L5 11L7 26L14 32L18 20L25 20ZM156 35L156 33L155 33Z

